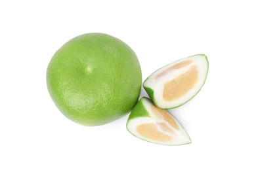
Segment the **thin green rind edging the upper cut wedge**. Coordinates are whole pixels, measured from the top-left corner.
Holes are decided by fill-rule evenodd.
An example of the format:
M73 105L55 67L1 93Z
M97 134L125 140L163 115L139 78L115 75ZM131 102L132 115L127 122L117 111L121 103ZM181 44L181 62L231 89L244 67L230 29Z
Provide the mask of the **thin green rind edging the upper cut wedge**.
M203 58L205 58L205 60L207 61L207 73L206 73L206 76L205 76L205 80L206 80L206 78L207 78L207 75L208 75L208 71L209 71L209 61L208 61L208 59L207 59L207 56L205 56L204 54L197 54L197 55L194 55L194 56L202 56ZM193 56L190 56L190 57L193 57ZM188 57L188 58L190 58L190 57ZM179 60L178 60L179 61ZM177 62L177 61L175 61L175 62ZM169 64L168 64L169 65ZM165 66L167 66L167 65L165 65ZM165 67L164 66L164 67ZM158 69L159 70L159 69ZM158 71L157 70L157 71ZM156 71L155 71L156 72ZM153 74L153 73L152 73ZM149 78L150 76L148 76L148 78ZM146 80L148 79L148 78L146 78ZM145 81L146 81L145 80ZM204 82L203 82L203 84L202 84L202 86L201 86L201 88L198 90L198 92L195 94L195 95L193 95L190 99L188 99L188 101L190 101L191 99L193 99L199 92L200 92L200 90L202 89L202 87L203 87L203 85L205 84L205 80L204 80ZM144 82L145 82L144 81ZM150 96L150 98L152 99L152 101L154 102L154 104L156 105L156 107L158 107L158 108L160 108L160 109L165 109L165 110L167 110L167 109L175 109L175 108L177 108L177 107L180 107L181 105L184 105L185 103L188 103L188 101L185 101L184 103L181 103L180 105L177 105L177 106L175 106L175 107L170 107L170 108L162 108L162 107L160 107L159 105L158 105L158 101L156 101L156 99L155 99L155 97L154 97L154 90L152 89L152 88L150 88L150 87L147 87L147 86L145 86L144 85L144 83L142 84L142 86L143 86L143 88L145 89L145 91L146 91L146 93L148 93L148 95Z

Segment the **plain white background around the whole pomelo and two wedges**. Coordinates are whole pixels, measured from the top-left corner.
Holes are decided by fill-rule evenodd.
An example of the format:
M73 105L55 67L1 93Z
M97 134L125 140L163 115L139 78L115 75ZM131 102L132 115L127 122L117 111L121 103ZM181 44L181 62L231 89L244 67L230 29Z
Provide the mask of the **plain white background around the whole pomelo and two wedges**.
M0 169L256 169L255 9L245 0L1 1ZM60 113L47 65L62 44L90 32L129 44L143 80L177 59L207 55L202 91L171 110L191 144L137 139L127 116L86 127Z

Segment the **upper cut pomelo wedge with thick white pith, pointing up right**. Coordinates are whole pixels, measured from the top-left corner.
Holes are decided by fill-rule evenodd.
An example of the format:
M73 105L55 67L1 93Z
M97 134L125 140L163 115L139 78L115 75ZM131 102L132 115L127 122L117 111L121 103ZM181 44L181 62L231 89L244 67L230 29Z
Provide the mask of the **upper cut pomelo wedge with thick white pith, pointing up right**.
M190 101L201 90L207 73L207 57L198 54L155 71L143 87L157 107L173 109Z

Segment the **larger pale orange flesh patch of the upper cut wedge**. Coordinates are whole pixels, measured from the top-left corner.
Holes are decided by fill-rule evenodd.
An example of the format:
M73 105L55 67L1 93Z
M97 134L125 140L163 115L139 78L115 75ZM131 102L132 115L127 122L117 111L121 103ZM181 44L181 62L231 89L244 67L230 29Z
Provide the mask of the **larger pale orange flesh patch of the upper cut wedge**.
M180 99L196 85L198 78L198 69L196 65L193 65L186 71L186 73L182 73L174 80L165 83L163 88L163 99L165 99L165 101Z

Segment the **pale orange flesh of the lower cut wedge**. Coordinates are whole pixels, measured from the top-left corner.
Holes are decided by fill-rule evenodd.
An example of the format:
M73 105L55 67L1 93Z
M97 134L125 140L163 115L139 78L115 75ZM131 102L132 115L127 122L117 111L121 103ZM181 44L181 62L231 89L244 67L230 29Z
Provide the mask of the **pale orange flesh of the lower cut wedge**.
M173 127L174 129L179 129L177 122L166 110L158 109L154 105L152 105L150 109L152 110L156 118L163 121L156 122L156 124L141 124L136 127L137 133L139 133L142 137L146 137L147 139L151 139L154 141L171 141L172 137L169 135L165 135L164 133L161 133L161 131L158 130L158 127L160 127L163 131L175 133L175 131L171 127Z

